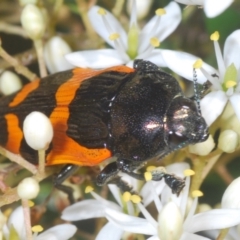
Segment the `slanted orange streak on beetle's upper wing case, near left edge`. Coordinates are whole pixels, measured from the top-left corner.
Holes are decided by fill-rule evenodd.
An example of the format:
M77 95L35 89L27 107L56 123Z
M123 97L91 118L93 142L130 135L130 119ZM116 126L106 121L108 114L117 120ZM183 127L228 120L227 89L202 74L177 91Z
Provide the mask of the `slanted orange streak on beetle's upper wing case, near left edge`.
M23 102L29 93L31 93L32 91L34 91L39 87L39 83L40 83L40 79L25 85L22 88L22 90L16 94L12 102L9 103L9 107L15 107L19 105L21 102Z

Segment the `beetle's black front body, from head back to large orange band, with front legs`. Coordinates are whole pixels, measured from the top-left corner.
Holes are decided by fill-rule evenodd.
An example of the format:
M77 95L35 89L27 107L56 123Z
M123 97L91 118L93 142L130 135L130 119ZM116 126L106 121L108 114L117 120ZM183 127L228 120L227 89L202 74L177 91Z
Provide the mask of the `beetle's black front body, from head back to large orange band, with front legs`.
M72 132L69 130L69 136L88 148L106 147L117 157L98 175L97 184L116 183L122 190L128 187L122 184L119 172L143 180L143 174L136 169L148 160L154 157L162 159L175 150L203 142L208 137L208 126L198 110L198 103L183 95L176 79L145 60L135 60L134 69L135 72L121 76L121 82L116 82L114 76L105 79L104 89L97 88L101 75L95 80L92 78L83 82L77 95L85 94L85 97L76 98L70 110L76 113L75 108L92 103L94 96L94 101L98 102L94 105L94 116L98 117L94 125L94 120L89 120L91 117L87 120L81 118L82 111L78 111L82 124L91 124L88 133L90 128L81 127L78 131L71 125L79 126L79 122L68 122L69 129L74 129ZM93 94L90 96L86 89L91 88ZM89 111L88 115L91 114L92 111ZM183 180L169 174L160 174L153 180L162 178L174 193L179 194L184 187ZM62 176L56 178L56 183L62 179Z

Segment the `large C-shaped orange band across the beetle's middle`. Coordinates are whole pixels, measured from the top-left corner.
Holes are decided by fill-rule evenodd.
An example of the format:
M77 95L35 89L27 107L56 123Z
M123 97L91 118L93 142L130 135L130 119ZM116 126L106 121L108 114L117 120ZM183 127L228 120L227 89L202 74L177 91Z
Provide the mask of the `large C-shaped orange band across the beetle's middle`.
M66 135L70 114L68 106L75 97L81 82L105 71L76 68L73 70L73 77L59 87L55 95L57 107L50 115L54 136L52 150L47 155L47 165L72 163L93 166L111 157L112 154L108 149L88 149Z

